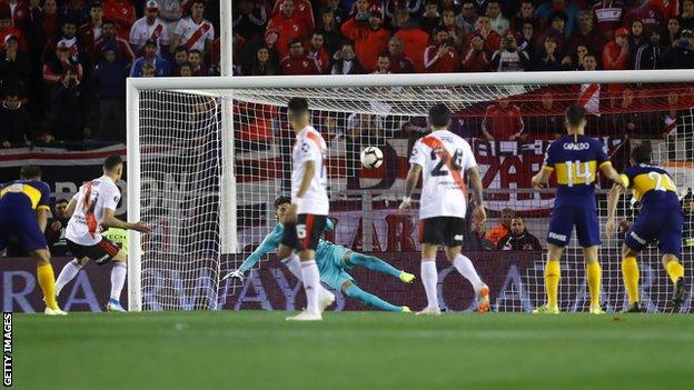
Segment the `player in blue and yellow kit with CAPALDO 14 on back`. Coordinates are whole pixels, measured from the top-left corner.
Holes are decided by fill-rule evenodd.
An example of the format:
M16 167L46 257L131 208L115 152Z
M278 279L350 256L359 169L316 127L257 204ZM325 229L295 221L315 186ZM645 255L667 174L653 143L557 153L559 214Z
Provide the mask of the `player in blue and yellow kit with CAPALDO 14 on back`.
M605 311L599 302L602 269L597 262L597 250L602 243L595 202L597 170L618 184L623 184L623 181L612 167L603 144L585 136L585 110L582 107L574 104L566 109L565 124L568 134L549 144L542 170L532 179L534 188L544 188L552 172L556 172L557 177L554 212L547 232L548 257L545 264L547 303L533 312L553 314L559 312L557 303L559 260L575 226L586 262L591 313L603 314Z

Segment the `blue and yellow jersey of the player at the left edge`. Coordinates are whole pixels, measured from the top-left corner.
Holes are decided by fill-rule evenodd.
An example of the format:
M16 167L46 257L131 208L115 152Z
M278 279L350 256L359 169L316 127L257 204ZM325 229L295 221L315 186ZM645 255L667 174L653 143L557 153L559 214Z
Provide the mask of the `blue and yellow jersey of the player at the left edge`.
M50 188L43 181L16 180L0 184L0 212L50 210Z

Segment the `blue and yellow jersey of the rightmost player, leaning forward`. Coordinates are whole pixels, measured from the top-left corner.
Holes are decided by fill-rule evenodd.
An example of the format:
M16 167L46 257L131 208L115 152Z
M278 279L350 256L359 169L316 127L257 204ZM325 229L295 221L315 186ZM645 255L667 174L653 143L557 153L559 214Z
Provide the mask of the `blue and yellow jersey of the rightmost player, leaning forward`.
M644 208L681 208L677 186L661 167L647 163L629 167L622 179Z

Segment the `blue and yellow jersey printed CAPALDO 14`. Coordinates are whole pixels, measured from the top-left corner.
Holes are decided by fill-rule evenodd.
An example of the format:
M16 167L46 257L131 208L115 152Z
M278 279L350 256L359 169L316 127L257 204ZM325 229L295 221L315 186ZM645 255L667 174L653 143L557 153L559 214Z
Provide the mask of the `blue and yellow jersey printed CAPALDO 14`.
M567 134L552 142L543 169L556 173L555 207L595 207L597 171L606 164L611 162L598 140Z

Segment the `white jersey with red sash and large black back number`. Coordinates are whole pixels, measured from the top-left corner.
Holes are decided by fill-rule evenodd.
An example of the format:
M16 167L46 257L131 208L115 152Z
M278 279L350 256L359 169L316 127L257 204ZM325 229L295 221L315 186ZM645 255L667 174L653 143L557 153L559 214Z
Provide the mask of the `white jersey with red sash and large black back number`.
M415 142L409 163L420 166L423 171L419 219L465 218L464 176L468 169L477 167L466 140L448 130L435 130Z

